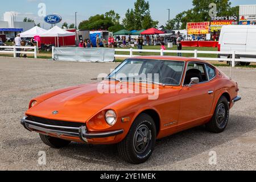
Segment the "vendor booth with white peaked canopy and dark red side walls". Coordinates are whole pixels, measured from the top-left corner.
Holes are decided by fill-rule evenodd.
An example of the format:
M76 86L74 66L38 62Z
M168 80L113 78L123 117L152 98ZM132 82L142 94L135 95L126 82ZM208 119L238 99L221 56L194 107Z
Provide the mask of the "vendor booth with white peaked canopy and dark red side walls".
M58 26L51 28L40 35L42 44L51 44L57 47L60 46L75 46L75 32L69 32L61 29Z

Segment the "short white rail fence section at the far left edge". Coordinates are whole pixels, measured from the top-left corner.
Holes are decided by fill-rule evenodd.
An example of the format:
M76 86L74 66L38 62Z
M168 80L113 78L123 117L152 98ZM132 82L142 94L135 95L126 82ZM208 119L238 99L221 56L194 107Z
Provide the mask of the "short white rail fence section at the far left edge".
M2 50L3 49L3 50ZM20 49L20 51L17 51ZM26 51L27 49L32 49L32 51ZM28 46L0 46L0 53L12 53L13 57L16 57L17 53L21 54L32 54L35 58L38 58L37 48Z

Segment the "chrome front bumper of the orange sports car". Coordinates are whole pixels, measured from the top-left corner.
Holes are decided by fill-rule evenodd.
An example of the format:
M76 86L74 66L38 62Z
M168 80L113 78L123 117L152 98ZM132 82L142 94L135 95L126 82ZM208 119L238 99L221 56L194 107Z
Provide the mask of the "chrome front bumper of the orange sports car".
M93 138L106 138L114 137L116 135L122 134L123 130L107 131L101 133L89 133L86 126L81 127L67 127L67 126L55 126L55 125L46 125L39 122L29 121L27 117L21 119L20 123L28 131L39 131L45 133L46 135L52 134L57 135L58 137L79 137L83 142L88 143L88 139Z

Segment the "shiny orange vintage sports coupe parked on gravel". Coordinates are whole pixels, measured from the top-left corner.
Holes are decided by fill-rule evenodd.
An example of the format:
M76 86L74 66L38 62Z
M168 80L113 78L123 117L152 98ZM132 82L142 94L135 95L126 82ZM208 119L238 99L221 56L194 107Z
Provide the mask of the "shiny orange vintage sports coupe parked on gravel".
M34 98L21 123L48 146L118 144L124 160L139 164L156 139L200 125L224 131L238 91L237 82L205 61L133 57L102 81Z

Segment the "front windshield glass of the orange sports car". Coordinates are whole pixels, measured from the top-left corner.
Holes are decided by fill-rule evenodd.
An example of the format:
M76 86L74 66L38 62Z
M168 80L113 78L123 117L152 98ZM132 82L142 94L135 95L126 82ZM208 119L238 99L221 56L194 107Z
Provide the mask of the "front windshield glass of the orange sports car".
M106 79L175 86L180 85L184 65L184 61L128 59L123 61Z

